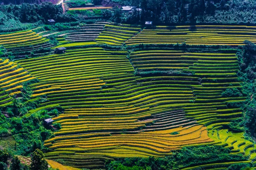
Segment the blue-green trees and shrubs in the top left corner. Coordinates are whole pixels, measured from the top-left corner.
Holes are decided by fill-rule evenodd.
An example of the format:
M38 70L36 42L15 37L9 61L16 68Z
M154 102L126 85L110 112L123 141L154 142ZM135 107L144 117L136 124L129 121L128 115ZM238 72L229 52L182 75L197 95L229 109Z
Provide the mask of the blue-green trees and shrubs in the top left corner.
M56 22L76 21L68 14L63 14L61 6L49 2L41 4L22 3L21 5L0 6L0 30L18 31L35 27L54 19ZM32 23L32 24L24 24Z

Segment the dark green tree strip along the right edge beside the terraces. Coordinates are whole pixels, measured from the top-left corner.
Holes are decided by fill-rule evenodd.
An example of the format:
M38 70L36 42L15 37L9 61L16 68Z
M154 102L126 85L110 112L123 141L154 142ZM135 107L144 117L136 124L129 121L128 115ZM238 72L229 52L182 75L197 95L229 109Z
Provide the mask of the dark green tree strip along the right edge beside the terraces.
M244 119L232 121L230 126L244 128L245 135L249 137L250 134L256 136L256 45L250 41L244 41L244 44L242 50L236 54L241 68L239 81L243 82L241 93L247 96L247 100L241 105L244 110Z

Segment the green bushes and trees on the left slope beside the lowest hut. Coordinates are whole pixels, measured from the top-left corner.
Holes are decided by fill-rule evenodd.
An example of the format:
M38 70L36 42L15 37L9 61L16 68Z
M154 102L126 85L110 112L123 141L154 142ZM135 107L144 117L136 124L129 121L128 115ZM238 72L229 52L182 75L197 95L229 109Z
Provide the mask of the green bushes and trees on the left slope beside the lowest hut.
M58 115L58 110L41 110L33 113L29 117L10 117L6 118L0 114L0 136L15 135L15 154L27 155L36 148L44 149L43 142L52 136L52 131L43 126L42 121L49 118L49 115Z

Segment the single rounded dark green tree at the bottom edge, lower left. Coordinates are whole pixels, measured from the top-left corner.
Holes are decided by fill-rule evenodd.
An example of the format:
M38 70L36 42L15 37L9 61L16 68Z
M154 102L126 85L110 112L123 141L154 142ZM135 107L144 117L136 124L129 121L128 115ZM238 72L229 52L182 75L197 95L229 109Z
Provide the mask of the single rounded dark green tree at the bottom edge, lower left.
M32 162L30 165L30 170L48 170L48 163L44 159L44 154L40 149L36 149L32 153Z

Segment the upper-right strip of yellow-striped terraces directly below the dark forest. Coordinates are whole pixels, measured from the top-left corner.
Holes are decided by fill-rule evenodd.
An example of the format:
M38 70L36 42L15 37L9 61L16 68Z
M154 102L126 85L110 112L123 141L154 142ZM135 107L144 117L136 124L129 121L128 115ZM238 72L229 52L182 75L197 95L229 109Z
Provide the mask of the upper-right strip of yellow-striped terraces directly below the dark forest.
M256 42L255 26L152 26L125 42L135 44L243 45L244 40Z

